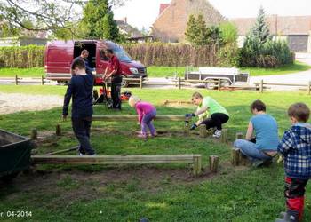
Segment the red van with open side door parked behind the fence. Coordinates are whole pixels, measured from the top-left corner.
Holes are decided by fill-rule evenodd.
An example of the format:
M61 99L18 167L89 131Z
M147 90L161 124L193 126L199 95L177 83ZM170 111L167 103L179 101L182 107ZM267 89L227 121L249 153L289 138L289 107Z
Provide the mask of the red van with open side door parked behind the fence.
M111 41L106 40L70 40L52 41L46 44L44 67L47 79L56 80L59 83L68 82L71 78L70 67L73 59L78 57L86 49L89 51L89 66L96 70L95 84L102 84L100 75L108 66L108 58L105 49L112 49L120 60L122 75L128 78L147 77L147 69L140 62L134 61L124 49ZM123 81L127 86L129 81Z

